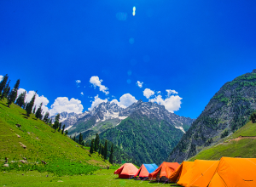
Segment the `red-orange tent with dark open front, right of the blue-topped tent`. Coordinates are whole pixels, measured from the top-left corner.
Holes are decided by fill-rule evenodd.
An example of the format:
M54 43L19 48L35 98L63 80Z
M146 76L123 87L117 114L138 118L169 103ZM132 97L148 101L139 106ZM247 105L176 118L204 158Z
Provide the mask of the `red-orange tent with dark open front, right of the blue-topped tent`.
M177 167L179 167L177 162L164 161L153 173L149 173L148 178L166 181L176 171Z

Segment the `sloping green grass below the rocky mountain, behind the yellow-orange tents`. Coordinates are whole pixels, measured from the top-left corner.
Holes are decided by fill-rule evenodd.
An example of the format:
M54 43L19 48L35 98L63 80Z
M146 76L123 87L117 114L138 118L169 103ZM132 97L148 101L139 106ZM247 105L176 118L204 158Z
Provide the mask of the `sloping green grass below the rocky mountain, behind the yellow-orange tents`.
M256 123L248 122L236 133L225 138L223 142L213 145L207 150L202 150L189 161L195 159L216 160L221 156L255 158L256 157Z

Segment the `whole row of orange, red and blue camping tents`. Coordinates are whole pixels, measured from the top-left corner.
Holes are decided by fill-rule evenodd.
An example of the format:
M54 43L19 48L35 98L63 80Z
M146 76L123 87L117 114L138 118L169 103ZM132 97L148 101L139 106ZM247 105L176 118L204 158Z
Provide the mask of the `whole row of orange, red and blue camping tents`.
M114 173L119 174L119 178L145 177L149 173L149 179L169 180L185 187L256 186L256 158L222 157L220 161L183 161L181 165L164 161L152 173L153 168L149 171L147 165L153 167L153 164L143 164L137 169L133 164L125 163Z

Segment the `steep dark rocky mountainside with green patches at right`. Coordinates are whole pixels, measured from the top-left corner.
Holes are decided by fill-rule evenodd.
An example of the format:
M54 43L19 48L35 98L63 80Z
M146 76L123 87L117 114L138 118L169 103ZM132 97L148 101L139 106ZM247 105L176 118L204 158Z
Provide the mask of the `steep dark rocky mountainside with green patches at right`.
M245 125L256 109L255 99L256 70L226 82L183 135L167 161L187 160Z

